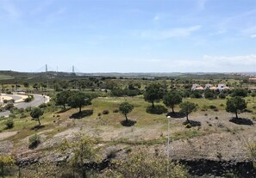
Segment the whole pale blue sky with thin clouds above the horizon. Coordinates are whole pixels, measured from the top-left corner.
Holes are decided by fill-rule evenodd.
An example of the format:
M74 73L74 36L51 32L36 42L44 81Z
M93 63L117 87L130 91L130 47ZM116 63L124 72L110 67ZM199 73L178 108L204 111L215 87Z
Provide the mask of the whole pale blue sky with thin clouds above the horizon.
M0 0L0 71L256 71L256 0Z

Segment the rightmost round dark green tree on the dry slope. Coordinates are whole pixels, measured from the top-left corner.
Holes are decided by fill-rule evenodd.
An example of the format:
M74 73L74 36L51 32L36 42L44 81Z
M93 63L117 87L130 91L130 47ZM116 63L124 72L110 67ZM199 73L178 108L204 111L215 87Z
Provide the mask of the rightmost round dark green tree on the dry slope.
M247 108L246 101L240 96L234 96L233 98L228 99L226 111L228 113L234 113L235 118L238 119L238 113L242 113Z

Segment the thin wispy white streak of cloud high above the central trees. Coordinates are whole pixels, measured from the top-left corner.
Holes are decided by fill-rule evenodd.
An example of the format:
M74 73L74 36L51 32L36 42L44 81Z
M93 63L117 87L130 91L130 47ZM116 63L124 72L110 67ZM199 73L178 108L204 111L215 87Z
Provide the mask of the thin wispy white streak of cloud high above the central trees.
M201 26L198 25L189 28L172 28L169 30L160 31L147 30L140 32L140 37L152 40L165 40L175 37L187 37L190 36L190 34L192 34L193 32L198 31L200 28Z

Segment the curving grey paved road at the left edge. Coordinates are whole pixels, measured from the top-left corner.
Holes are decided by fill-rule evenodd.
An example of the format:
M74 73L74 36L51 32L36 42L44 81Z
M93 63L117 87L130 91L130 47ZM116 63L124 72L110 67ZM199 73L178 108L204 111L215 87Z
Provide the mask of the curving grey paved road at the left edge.
M33 101L16 103L14 104L14 106L18 108L38 107L42 103L48 102L48 101L50 101L50 98L47 95L34 95ZM4 111L0 113L0 117L3 117L3 116L6 117L6 116L9 116L9 114L10 114L9 111Z

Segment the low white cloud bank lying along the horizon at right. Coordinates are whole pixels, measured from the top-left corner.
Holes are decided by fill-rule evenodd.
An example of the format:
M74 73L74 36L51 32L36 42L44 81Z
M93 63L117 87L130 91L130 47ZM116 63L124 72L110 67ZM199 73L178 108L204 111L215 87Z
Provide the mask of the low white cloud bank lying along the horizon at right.
M247 56L209 56L201 59L147 59L147 67L159 71L179 72L239 72L256 71L256 54Z

